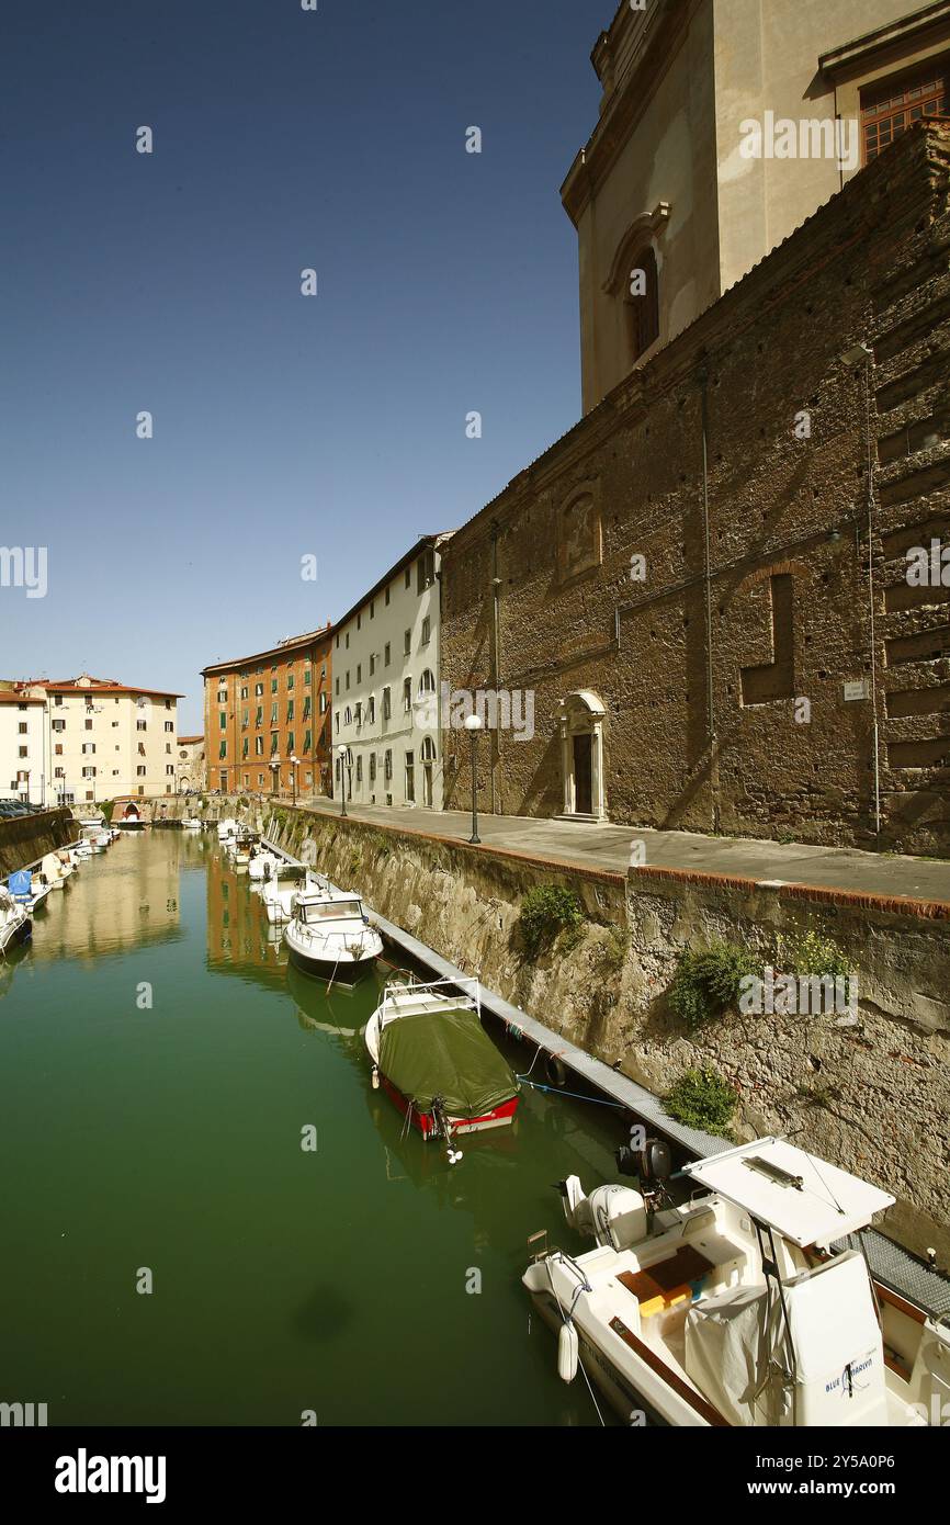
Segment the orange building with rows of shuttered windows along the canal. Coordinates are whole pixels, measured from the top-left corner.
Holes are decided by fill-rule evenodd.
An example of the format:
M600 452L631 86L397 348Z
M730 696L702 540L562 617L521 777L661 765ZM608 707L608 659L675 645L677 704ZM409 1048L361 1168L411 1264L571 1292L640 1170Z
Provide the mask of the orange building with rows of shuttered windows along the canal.
M201 669L209 788L331 791L331 637L326 624Z

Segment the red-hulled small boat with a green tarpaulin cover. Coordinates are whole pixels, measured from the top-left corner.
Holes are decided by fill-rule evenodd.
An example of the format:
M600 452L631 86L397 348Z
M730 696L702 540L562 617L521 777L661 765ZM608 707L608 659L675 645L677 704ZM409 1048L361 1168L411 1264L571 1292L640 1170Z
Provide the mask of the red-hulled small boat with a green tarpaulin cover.
M514 1122L518 1081L482 1026L479 982L457 994L448 981L393 982L366 1025L374 1086L383 1089L424 1139L442 1138L448 1162L462 1133Z

